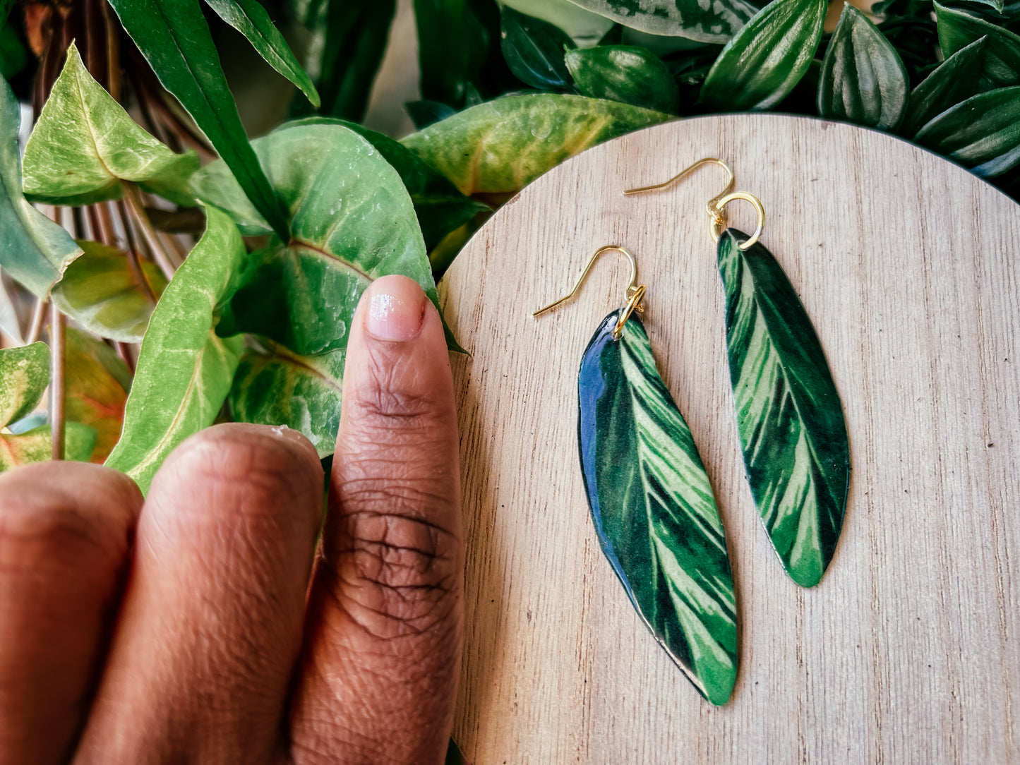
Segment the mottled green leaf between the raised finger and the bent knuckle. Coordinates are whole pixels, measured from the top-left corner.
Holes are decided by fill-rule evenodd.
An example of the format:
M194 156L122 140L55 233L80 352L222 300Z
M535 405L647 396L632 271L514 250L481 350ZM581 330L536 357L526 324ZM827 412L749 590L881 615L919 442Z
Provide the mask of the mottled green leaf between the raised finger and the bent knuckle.
M334 452L347 352L298 356L276 343L245 350L231 389L239 422L287 425L302 432L319 457Z

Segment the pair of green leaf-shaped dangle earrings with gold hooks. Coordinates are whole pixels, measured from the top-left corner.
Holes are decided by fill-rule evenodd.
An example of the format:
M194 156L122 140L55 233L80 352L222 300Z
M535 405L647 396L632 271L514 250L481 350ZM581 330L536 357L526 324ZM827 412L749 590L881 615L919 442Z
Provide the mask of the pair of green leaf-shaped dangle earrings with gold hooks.
M843 408L811 322L775 258L758 244L761 203L726 189L708 203L726 293L726 338L737 430L752 494L789 576L813 586L832 557L849 482ZM726 204L758 212L753 236L725 226ZM633 256L626 302L599 325L577 377L577 436L592 520L603 553L656 641L698 691L728 701L737 672L736 604L725 532L691 429L655 363Z

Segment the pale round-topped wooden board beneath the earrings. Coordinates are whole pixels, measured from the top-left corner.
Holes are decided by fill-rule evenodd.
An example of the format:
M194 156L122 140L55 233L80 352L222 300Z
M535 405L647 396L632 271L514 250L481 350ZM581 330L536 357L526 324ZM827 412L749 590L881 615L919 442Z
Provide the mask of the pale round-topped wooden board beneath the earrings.
M744 479L704 205L726 158L814 321L852 478L827 574L776 560ZM753 228L750 207L732 209ZM576 446L576 374L638 257L645 325L726 526L741 619L732 701L703 701L604 560ZM890 136L700 117L584 152L508 203L441 286L467 533L454 736L489 763L1020 763L1020 206Z

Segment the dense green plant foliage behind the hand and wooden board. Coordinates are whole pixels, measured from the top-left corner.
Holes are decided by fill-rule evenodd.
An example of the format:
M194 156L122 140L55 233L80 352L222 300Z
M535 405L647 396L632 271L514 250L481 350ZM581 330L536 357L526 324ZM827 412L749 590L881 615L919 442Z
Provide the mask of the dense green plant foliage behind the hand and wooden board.
M522 186L680 116L855 122L1020 194L1020 2L703 5L414 0L417 132L387 136L361 121L396 0L0 0L0 470L91 459L146 490L223 419L327 458L371 279L436 300ZM246 112L285 115L260 137L241 45L266 64L233 79Z

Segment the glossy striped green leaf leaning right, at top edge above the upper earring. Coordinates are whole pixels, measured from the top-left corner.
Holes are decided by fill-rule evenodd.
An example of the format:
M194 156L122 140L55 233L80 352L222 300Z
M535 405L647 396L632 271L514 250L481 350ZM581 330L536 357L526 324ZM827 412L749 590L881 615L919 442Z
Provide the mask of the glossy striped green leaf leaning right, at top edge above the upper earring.
M701 100L731 111L779 103L811 66L827 7L825 0L772 0L726 43Z

